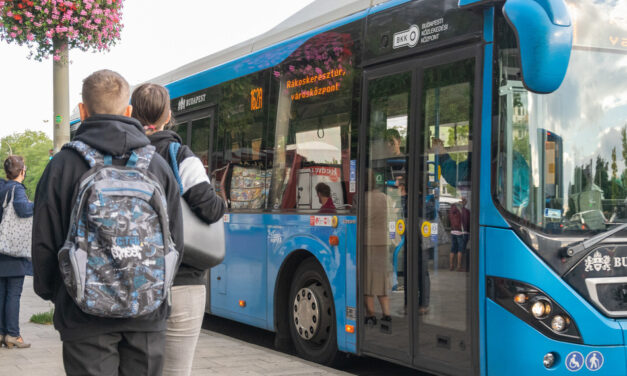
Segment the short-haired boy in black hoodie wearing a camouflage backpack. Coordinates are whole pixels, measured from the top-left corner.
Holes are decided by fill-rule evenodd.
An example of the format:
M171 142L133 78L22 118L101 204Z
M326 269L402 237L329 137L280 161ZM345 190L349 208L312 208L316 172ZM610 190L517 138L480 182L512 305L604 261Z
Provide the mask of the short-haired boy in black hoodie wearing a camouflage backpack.
M130 117L130 88L83 81L82 124L35 194L35 292L55 305L68 375L160 375L183 252L179 186Z

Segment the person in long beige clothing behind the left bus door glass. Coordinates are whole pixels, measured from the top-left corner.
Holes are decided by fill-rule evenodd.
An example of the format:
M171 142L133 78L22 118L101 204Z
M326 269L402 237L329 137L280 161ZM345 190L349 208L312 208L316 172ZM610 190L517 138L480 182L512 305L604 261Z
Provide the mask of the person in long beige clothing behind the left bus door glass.
M377 186L375 173L369 171L368 187L366 190L366 286L364 298L366 305L365 324L376 325L374 297L381 305L383 316L381 325L389 325L392 321L390 314L390 300L388 291L392 286L388 276L388 198Z

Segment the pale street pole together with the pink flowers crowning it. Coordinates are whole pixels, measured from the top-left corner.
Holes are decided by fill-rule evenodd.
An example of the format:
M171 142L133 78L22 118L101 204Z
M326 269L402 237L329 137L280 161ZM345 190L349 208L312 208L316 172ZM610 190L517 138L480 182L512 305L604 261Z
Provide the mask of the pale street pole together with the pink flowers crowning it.
M68 50L108 51L120 39L122 0L0 0L0 40L53 56L54 149L70 140Z

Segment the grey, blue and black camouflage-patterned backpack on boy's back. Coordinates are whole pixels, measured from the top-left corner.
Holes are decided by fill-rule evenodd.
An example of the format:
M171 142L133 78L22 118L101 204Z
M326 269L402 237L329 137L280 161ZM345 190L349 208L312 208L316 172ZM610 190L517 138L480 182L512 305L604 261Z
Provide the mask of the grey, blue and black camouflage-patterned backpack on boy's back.
M89 163L80 179L65 244L58 254L68 293L91 315L137 317L167 298L178 261L161 185L147 171L154 146L132 151L126 166L73 141Z

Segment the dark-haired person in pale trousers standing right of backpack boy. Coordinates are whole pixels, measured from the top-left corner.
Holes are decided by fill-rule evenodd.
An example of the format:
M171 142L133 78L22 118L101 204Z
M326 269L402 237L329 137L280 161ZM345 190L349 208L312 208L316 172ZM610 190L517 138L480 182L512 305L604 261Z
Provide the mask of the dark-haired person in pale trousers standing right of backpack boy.
M174 131L164 129L171 120L170 95L160 85L143 84L131 96L132 116L144 127L150 143L170 166L171 143L182 144ZM207 224L217 222L226 205L209 181L203 161L189 147L181 145L176 156L182 198L198 218ZM172 311L167 321L163 375L189 375L194 349L205 315L205 270L195 268L185 260L179 267L172 285Z

